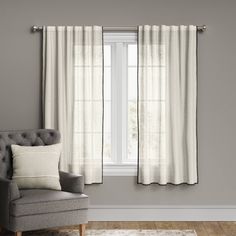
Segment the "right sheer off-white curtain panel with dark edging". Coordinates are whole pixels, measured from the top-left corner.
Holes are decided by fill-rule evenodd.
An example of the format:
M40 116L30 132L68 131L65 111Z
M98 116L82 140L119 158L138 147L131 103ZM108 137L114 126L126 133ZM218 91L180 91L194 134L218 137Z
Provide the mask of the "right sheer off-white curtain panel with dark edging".
M138 27L138 183L195 184L196 26Z

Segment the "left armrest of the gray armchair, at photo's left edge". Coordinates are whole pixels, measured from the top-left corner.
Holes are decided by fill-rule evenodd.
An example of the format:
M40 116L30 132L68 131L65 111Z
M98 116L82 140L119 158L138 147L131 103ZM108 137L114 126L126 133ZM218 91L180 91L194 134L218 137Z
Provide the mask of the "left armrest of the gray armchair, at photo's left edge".
M9 224L10 202L20 198L16 182L0 177L0 225Z

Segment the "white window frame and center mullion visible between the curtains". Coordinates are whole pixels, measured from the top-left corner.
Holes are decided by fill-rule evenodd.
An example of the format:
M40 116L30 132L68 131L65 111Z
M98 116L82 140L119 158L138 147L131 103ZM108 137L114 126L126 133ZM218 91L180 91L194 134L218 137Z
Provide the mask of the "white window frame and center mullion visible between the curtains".
M136 32L105 32L104 44L111 47L111 159L112 163L103 163L104 176L136 176L137 162L127 161L128 146L128 73L127 49L124 42L137 44ZM127 47L127 45L126 45ZM117 61L122 63L116 63ZM121 78L121 81L119 80ZM121 103L120 103L120 98Z

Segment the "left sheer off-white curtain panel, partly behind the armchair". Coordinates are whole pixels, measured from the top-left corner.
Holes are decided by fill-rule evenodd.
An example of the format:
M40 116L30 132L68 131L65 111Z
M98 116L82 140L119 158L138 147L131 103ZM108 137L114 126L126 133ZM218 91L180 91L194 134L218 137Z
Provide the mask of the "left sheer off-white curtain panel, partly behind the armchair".
M44 127L61 132L60 168L102 182L103 39L100 26L43 29Z

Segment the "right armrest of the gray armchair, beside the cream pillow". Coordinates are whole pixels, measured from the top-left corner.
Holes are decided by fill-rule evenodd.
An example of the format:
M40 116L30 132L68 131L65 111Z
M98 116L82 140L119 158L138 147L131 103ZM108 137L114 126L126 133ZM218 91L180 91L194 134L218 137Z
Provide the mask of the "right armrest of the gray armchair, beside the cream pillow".
M60 183L62 191L72 193L83 193L84 177L60 171Z

